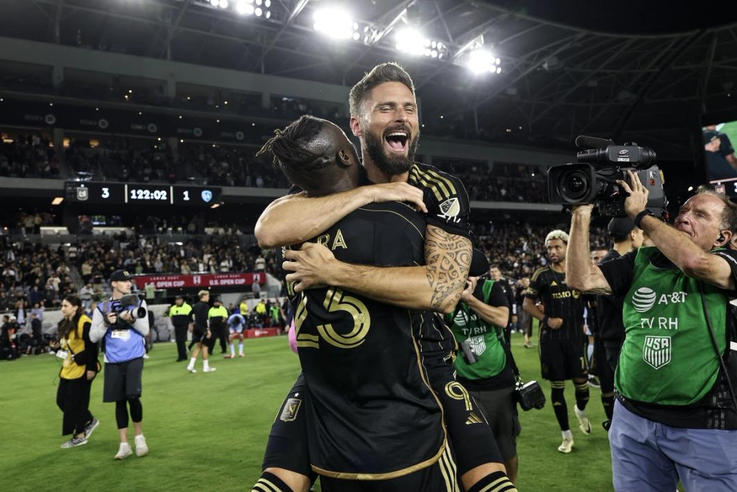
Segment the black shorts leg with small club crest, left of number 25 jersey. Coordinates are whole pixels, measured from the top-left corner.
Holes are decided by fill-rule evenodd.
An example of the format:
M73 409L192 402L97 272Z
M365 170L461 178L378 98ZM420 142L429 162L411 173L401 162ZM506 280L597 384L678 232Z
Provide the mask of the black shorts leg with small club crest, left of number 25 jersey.
M315 481L317 474L310 467L310 452L307 450L306 399L307 386L300 374L271 424L262 471L284 468Z

